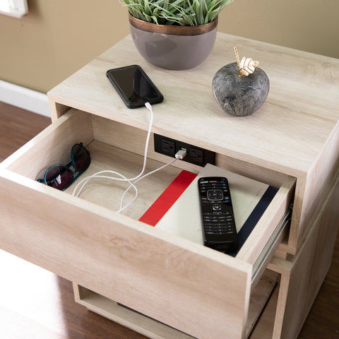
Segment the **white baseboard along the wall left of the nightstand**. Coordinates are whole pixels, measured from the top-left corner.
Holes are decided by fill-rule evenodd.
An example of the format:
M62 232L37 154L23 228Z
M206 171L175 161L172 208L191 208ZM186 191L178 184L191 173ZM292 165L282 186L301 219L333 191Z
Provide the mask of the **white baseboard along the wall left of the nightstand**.
M0 80L0 101L51 117L47 95Z

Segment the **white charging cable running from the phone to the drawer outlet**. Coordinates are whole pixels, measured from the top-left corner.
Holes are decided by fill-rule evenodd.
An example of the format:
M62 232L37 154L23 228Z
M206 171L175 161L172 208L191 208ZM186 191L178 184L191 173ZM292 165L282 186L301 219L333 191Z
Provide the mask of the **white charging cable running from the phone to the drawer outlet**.
M78 197L81 194L81 191L83 191L83 188L85 187L85 185L88 183L88 181L90 179L103 178L103 179L117 180L117 181L121 181L121 182L129 182L130 186L126 189L126 191L124 191L124 194L121 197L120 208L119 208L119 210L116 211L117 213L120 213L122 210L131 206L131 204L134 201L136 201L136 198L138 197L138 189L135 186L136 182L143 179L144 177L147 177L150 174L153 174L153 173L159 171L160 169L163 169L163 168L171 165L177 159L183 159L184 158L184 156L186 155L186 150L179 150L179 152L175 155L174 160L168 162L166 165L163 165L162 167L159 167L159 168L153 170L152 172L149 172L149 173L143 175L143 173L145 172L146 162L147 162L148 143L150 141L150 131L151 131L152 125L153 125L153 109L152 109L152 106L150 105L149 102L146 102L145 107L150 111L150 124L148 126L148 133L147 133L146 142L145 142L145 152L144 152L144 156L143 156L143 168L141 169L141 172L136 177L133 177L131 179L127 179L124 175L122 175L118 172L115 172L115 171L111 171L111 170L103 170L103 171L97 172L95 174L92 174L88 177L83 178L80 182L78 182L78 184L76 185L76 187L73 190L73 196ZM119 177L110 177L108 175L102 175L104 173L118 175L120 178ZM81 184L82 184L82 186L81 186ZM81 186L81 188L78 190L79 186ZM133 187L133 189L136 191L136 194L135 194L133 200L130 203L128 203L126 206L122 207L123 202L124 202L124 197L126 196L126 193L129 191L129 189L131 189L131 187ZM76 193L77 190L78 190L78 192Z

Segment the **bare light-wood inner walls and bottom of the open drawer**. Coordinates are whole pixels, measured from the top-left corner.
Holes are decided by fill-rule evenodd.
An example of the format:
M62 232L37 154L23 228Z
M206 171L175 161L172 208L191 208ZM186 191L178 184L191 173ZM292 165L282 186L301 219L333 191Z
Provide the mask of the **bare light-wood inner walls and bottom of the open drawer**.
M110 131L107 131L107 125L111 128ZM112 136L109 136L109 133ZM6 168L29 179L36 180L38 177L42 177L44 170L51 165L68 162L72 146L75 143L83 142L90 152L90 167L63 193L76 195L81 189L79 198L115 211L121 207L121 197L129 187L128 182L100 177L90 179L83 188L81 188L82 184L80 182L86 177L103 170L124 174L127 178L136 177L143 167L145 147L145 138L143 137L145 137L145 131L143 130L131 129L129 126L126 126L125 129L125 126L121 126L121 124L115 123L114 125L114 121L71 109L54 122L52 126L40 133L34 141L28 143L13 155L15 159L12 159ZM154 171L164 165L164 162L169 162L169 160L169 157L158 155L153 151L152 138L150 138L147 166L144 173ZM121 213L134 220L141 218L141 215L150 208L182 169L189 169L191 172L198 173L201 167L177 160L173 166L167 166L159 172L142 179L138 182L138 198L132 206ZM106 172L101 175L120 178L117 174ZM291 188L294 186L294 182L295 179L287 176L281 179L281 187L277 198L272 201L268 210L263 214L263 218L256 225L254 234L249 237L239 254L237 254L237 256L239 255L238 258L255 266L254 274L256 275L258 275L260 268L258 266L263 266L262 263L265 259L267 263L268 252L274 253L272 244L275 244L277 238L282 237L281 234L286 234L285 219L288 214L286 206L290 201ZM47 189L47 187L43 189ZM124 196L124 205L132 201L134 196L135 191L130 189ZM284 200L285 203L280 206ZM278 213L279 210L280 214ZM286 213L284 213L284 210L286 210ZM280 220L279 216L274 217L277 213L283 220ZM269 237L262 239L265 242L265 246L262 246L260 242L258 244L258 238L260 238L263 231L267 231L266 225L270 218L275 220L272 222L272 232L270 232ZM253 241L257 244L254 244ZM281 239L279 242L281 242ZM253 248L256 246L258 249L253 252ZM261 267L261 270L263 268Z

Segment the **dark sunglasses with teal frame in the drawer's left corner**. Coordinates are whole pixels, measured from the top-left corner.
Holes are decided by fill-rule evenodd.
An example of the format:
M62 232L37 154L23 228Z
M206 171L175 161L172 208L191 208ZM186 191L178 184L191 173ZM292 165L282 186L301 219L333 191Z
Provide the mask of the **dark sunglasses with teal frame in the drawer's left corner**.
M73 167L74 171L70 168ZM37 179L47 186L64 191L90 166L90 153L83 143L76 143L71 150L71 160L66 165L53 165L44 172L44 179Z

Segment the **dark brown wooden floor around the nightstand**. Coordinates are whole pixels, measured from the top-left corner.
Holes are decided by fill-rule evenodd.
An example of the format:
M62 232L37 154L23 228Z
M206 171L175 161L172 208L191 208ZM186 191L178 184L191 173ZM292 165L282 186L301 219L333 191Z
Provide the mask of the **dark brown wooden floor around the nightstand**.
M0 161L50 122L0 102ZM1 339L145 338L76 304L70 281L1 250L0 272ZM338 236L331 268L298 338L339 339Z

